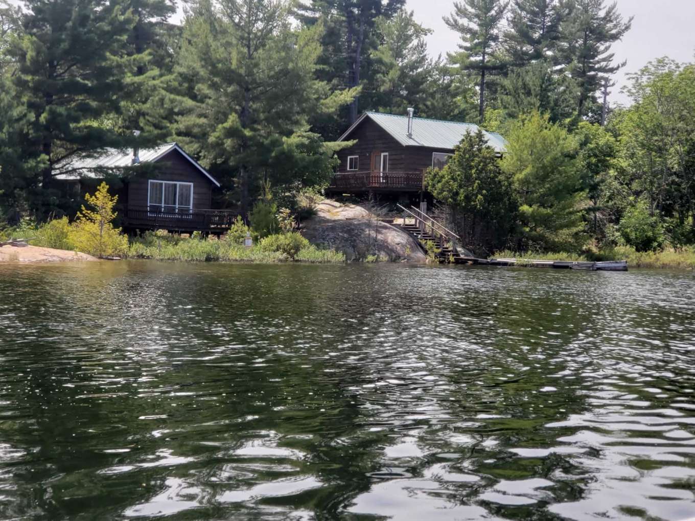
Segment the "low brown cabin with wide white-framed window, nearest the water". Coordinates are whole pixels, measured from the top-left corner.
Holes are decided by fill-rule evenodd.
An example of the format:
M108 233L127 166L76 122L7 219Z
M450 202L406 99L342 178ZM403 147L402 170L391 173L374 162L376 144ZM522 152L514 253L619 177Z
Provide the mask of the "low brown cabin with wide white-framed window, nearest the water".
M96 156L80 156L60 165L56 179L72 185L72 192L93 191L99 179L117 176L121 183L117 210L129 232L167 229L220 235L236 217L212 208L213 190L220 183L177 143L151 149L107 149Z

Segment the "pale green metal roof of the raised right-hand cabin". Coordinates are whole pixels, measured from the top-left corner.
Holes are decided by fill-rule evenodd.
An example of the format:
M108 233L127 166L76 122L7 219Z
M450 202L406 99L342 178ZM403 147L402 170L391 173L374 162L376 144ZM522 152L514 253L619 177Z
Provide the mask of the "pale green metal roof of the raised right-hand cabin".
M378 112L366 112L357 119L350 129L341 135L338 141L343 141L366 117L402 144L404 147L428 147L436 149L453 149L468 132L477 132L480 129L474 123L460 123L442 121L441 119L426 119L424 117L413 118L413 135L408 135L408 117L406 115L383 114ZM505 151L505 138L498 133L483 131L487 142L496 151Z

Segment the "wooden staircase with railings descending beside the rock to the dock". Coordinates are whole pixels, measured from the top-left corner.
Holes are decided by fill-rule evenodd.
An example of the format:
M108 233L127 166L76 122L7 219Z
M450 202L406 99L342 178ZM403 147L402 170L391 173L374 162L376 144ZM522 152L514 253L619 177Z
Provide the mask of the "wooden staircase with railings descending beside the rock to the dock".
M427 251L426 243L433 242L434 247L439 250L436 254L439 262L458 264L477 261L473 257L466 257L459 253L456 249L456 244L461 238L454 232L446 229L441 223L436 222L432 217L414 206L404 208L404 206L399 204L398 208L402 211L403 218L400 224L395 224L395 226L400 226L404 231L416 238L425 251Z

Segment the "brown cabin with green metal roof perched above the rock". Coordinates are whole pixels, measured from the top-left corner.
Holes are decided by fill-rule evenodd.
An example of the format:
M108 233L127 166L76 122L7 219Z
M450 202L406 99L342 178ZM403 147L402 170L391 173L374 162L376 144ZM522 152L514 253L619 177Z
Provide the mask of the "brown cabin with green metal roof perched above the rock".
M413 117L412 109L407 115L363 113L338 139L357 142L338 151L340 165L328 191L405 198L419 194L424 191L425 170L445 165L464 135L478 129L473 123ZM505 139L484 134L501 156Z

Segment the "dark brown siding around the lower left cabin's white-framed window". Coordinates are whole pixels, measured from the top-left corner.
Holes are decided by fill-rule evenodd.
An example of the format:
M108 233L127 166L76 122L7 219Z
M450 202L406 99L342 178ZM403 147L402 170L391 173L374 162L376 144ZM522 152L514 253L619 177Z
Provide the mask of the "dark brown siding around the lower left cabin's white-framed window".
M193 208L208 210L212 204L213 182L200 172L193 163L184 158L179 151L172 150L156 162L157 172L136 175L128 182L128 205L144 208L147 206L147 184L149 179L158 181L181 181L193 183Z

